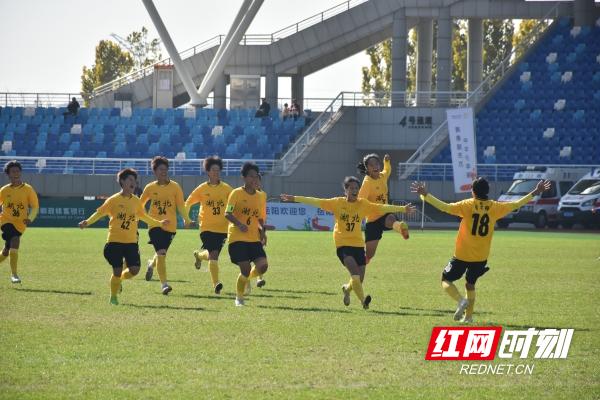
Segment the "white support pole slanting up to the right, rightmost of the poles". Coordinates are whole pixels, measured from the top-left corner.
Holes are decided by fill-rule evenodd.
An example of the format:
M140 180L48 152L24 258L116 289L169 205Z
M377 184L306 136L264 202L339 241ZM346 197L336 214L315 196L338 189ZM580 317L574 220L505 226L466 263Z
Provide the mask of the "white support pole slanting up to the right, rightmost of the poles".
M198 89L198 95L200 96L200 100L206 104L206 98L208 94L213 90L215 83L219 77L219 75L223 74L223 70L225 69L225 64L229 61L229 58L237 48L242 36L248 30L248 27L254 20L256 13L262 6L264 0L251 0L251 4L248 9L243 13L243 16L235 29L233 29L233 33L231 37L226 37L223 43L221 43L221 47L223 47L223 51L221 52L220 57L213 58L211 65L208 67L208 71L210 73L206 73L204 75L204 79L202 79L202 83L200 84L200 88ZM246 3L242 5L242 7ZM242 11L242 10L240 10ZM233 26L232 26L233 28ZM232 29L230 29L231 32Z

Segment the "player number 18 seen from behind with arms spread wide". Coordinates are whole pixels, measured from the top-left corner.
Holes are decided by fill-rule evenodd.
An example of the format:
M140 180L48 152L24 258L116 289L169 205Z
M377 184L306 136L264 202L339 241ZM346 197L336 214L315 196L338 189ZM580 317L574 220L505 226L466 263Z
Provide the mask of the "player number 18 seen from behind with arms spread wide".
M457 302L455 321L473 322L475 283L479 277L489 271L487 259L496 221L549 189L549 181L540 181L531 193L518 201L497 202L488 199L489 183L480 177L473 181L472 198L448 204L428 193L425 183L413 182L411 191L418 193L421 199L441 211L462 218L456 236L454 256L442 272L442 287ZM466 299L460 295L453 283L465 272Z

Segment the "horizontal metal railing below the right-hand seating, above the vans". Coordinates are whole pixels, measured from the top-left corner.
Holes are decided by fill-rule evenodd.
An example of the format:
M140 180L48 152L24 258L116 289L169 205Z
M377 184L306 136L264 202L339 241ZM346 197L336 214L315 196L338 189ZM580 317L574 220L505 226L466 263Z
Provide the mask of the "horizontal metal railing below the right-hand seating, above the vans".
M526 167L547 168L581 168L592 171L600 165L535 165L535 164L478 164L477 175L485 177L492 182L512 181L515 172L524 170ZM408 176L406 172L410 171ZM429 180L429 181L453 181L454 173L451 163L398 163L399 180Z

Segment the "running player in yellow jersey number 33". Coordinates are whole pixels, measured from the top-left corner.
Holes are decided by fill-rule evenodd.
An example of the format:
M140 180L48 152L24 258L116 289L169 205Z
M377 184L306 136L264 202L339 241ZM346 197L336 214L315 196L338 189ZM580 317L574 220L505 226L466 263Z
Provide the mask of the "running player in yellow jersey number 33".
M200 203L198 222L202 251L194 251L195 265L196 269L200 269L202 261L208 261L213 289L215 294L219 294L223 290L223 283L219 281L219 255L227 239L229 225L229 221L225 219L225 206L233 189L221 180L223 160L219 157L205 158L204 170L208 175L208 181L190 193L185 201L185 207L189 212L194 204Z

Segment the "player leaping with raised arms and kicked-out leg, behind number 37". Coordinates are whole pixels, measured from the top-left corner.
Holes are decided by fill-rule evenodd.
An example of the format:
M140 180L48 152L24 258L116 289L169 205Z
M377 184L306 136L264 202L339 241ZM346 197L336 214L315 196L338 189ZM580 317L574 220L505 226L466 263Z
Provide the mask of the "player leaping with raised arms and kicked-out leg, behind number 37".
M371 203L387 204L387 181L392 173L389 154L383 157L383 170L381 170L381 159L377 154L366 155L357 167L365 175L358 197L367 199ZM365 226L367 264L375 257L377 245L383 236L383 231L391 229L400 233L404 239L408 239L408 225L404 221L398 221L394 214L375 212L367 215L367 225Z

